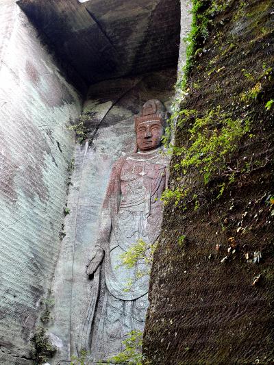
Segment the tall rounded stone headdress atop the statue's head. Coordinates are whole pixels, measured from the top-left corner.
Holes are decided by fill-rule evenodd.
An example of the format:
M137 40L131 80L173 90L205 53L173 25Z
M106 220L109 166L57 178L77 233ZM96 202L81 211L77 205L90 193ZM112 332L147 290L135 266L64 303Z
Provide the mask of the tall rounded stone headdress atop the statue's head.
M165 122L165 108L164 105L158 99L151 99L147 101L142 107L140 116L135 116L135 129L140 123L157 121L164 126Z

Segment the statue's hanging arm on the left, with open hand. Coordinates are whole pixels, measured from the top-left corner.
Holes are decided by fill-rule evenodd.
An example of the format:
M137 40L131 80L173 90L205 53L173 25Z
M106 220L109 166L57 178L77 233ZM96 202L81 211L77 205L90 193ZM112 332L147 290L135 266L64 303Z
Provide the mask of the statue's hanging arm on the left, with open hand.
M118 200L118 197L121 194L121 188L119 183L123 162L123 159L118 160L114 164L112 168L112 173L110 174L110 181L108 183L108 189L105 194L105 199L103 201L103 207L101 210L97 242L95 244L95 249L92 250L90 262L87 265L86 269L86 273L88 275L92 275L95 273L95 271L103 261L105 251L108 250L110 244L109 240L112 230L112 219L110 216L110 199Z

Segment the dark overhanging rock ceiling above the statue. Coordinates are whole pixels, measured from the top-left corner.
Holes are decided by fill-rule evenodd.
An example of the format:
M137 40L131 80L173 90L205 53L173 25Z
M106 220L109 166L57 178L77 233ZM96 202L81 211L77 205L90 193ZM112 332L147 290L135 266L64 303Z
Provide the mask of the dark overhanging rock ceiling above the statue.
M45 41L86 85L176 66L179 0L20 0Z

